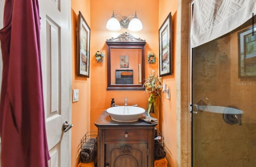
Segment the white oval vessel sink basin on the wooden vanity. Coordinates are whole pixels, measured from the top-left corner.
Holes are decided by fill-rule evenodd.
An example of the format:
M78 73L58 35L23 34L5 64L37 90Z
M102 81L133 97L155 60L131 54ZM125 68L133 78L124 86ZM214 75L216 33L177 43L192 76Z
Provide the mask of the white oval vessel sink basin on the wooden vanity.
M116 106L107 109L111 119L118 122L134 122L137 121L145 112L144 108L135 106Z

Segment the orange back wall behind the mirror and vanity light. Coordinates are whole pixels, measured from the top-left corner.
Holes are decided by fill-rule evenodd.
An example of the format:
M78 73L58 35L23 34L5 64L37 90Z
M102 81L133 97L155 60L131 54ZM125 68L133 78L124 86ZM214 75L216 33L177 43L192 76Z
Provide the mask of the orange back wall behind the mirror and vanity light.
M112 11L121 16L133 15L137 12L138 18L143 24L143 29L138 32L130 32L128 29L120 29L118 32L106 29L106 23L112 16ZM117 37L129 32L135 37L146 40L146 55L155 53L158 55L158 0L92 0L90 2L91 14L91 112L90 129L97 130L94 122L103 110L110 107L111 98L115 103L124 105L124 98L127 97L128 105L138 104L146 108L149 94L144 91L107 91L107 62L106 62L106 39ZM94 54L102 51L106 55L104 63L96 63ZM158 59L157 59L158 61ZM146 56L145 56L146 62ZM158 64L146 63L146 77L152 69L158 71Z

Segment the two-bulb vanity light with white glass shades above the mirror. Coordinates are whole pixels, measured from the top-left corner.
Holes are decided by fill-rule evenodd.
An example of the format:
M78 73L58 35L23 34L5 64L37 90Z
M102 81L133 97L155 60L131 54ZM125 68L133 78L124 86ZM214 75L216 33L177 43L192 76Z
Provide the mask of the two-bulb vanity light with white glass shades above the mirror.
M122 28L128 28L130 31L140 31L142 29L142 23L137 18L136 11L134 15L130 15L128 17L122 17L118 14L115 14L113 10L112 17L108 20L106 28L111 31L118 31ZM116 16L120 17L121 20L118 21ZM129 20L130 17L133 17L132 20Z

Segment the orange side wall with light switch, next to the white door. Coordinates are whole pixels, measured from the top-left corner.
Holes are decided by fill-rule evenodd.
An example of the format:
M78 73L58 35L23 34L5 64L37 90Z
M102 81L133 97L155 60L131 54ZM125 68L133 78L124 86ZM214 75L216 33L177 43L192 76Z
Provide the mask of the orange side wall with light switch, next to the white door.
M90 0L71 1L72 20L72 89L79 89L78 102L72 103L71 167L77 167L80 139L90 131L90 78L77 77L76 74L76 27L78 12L81 11L90 26Z

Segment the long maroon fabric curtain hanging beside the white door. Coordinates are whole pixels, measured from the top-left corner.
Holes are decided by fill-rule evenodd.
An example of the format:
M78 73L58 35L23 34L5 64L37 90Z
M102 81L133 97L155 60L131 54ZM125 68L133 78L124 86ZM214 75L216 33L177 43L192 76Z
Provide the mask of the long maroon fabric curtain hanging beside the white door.
M48 167L37 0L5 0L0 30L2 167Z

